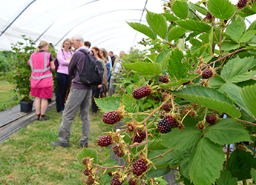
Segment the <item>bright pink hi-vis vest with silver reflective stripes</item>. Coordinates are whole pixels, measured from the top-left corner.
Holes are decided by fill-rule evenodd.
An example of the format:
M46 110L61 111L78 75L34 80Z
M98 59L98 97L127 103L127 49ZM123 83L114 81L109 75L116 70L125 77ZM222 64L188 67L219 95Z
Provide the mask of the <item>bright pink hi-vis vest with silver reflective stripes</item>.
M32 73L30 85L32 88L43 88L53 86L53 73L50 70L50 53L32 53L30 60Z

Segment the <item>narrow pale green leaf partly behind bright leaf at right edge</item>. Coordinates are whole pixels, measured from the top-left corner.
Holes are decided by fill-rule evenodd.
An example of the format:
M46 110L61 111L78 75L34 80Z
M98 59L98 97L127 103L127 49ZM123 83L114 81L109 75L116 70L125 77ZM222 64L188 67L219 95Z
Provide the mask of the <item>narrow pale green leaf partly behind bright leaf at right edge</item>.
M247 109L246 105L243 103L242 97L240 95L241 88L237 85L227 81L226 84L223 85L224 92L229 95L230 98L240 107L242 110L246 111L249 115L252 116L252 113Z

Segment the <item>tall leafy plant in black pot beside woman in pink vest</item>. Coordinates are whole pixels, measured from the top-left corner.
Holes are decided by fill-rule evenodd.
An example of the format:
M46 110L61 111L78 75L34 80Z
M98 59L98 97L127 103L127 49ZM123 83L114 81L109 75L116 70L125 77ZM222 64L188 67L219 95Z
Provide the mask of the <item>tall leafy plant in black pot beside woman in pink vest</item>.
M18 41L12 44L12 51L16 56L10 61L10 73L7 79L15 85L14 90L22 97L21 112L30 112L33 107L33 100L30 99L30 75L31 69L27 64L30 55L36 49L35 42L26 36L22 36L24 42Z

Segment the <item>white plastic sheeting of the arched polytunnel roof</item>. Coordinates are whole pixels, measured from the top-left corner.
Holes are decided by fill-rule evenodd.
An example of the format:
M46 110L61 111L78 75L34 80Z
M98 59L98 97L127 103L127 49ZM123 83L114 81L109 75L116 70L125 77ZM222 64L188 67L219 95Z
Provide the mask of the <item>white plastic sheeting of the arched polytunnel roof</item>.
M10 50L10 43L23 41L21 35L34 41L45 40L58 48L65 38L79 33L92 47L104 47L114 54L127 52L146 36L126 21L148 25L146 10L163 13L165 1L0 0L0 50Z

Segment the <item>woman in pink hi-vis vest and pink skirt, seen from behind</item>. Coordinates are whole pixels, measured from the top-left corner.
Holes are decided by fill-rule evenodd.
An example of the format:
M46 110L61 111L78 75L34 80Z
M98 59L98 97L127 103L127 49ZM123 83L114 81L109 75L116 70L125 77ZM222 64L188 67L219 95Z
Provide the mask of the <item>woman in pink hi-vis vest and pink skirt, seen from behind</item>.
M49 50L49 44L46 41L41 41L35 53L30 55L30 60L27 61L31 67L30 88L31 95L36 97L36 119L40 121L48 120L45 116L48 105L48 98L53 98L53 73L55 70L54 61Z

